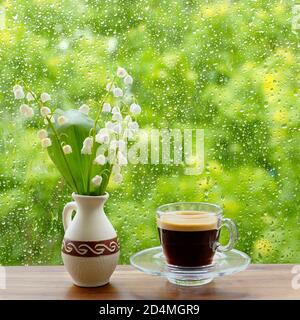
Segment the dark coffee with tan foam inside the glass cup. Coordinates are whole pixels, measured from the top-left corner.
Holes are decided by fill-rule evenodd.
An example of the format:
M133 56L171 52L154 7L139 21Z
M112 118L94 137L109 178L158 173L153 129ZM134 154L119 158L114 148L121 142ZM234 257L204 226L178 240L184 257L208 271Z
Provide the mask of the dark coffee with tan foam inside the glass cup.
M157 218L160 242L169 265L210 265L219 238L215 215L197 211L167 212Z

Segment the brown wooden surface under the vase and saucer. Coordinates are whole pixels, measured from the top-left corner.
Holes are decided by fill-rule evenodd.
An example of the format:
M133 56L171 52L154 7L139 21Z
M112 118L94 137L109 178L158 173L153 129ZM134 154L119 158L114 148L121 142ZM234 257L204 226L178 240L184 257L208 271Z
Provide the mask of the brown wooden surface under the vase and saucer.
M293 265L251 265L202 287L180 287L166 279L118 266L110 284L79 288L63 266L6 267L3 299L300 299L292 288Z

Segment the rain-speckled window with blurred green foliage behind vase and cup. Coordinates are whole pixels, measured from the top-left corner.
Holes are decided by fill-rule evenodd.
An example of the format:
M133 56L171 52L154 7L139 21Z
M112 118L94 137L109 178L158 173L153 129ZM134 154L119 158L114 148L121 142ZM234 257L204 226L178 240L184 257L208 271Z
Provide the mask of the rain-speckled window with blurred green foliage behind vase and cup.
M0 263L58 264L71 191L12 86L94 110L124 66L143 128L205 130L205 170L130 166L106 212L121 262L158 245L157 206L221 205L253 262L300 260L299 32L293 1L19 0L0 4Z

